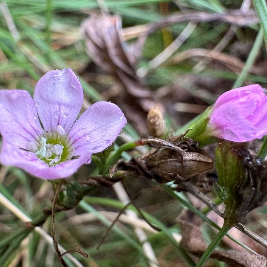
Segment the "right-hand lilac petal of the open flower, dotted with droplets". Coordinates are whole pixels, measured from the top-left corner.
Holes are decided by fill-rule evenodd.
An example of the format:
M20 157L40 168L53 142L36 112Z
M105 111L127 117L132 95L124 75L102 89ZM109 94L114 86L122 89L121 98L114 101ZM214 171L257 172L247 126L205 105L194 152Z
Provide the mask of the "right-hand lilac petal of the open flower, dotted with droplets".
M126 124L119 107L98 101L91 105L74 123L69 132L76 155L100 152L109 147Z

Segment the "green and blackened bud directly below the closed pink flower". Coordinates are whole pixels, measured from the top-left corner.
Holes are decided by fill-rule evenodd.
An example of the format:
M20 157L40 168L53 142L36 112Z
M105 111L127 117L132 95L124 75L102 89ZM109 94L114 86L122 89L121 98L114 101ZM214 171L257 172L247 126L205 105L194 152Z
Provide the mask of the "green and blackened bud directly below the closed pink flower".
M217 193L226 204L224 217L236 223L265 197L267 188L262 180L266 179L267 168L242 144L229 141L218 144L215 164Z

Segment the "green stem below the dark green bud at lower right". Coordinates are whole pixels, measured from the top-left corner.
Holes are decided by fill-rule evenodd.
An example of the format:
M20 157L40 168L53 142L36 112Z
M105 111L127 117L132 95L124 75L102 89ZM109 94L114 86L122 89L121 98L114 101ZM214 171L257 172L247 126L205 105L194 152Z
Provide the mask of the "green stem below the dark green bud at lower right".
M213 250L216 249L219 242L222 240L222 238L227 234L227 232L233 227L232 224L228 224L227 221L224 221L224 224L222 228L220 229L219 233L215 236L215 238L212 240L208 248L205 250L205 252L200 257L199 262L197 263L196 267L202 267L204 266L205 262L209 259L209 256L213 252Z

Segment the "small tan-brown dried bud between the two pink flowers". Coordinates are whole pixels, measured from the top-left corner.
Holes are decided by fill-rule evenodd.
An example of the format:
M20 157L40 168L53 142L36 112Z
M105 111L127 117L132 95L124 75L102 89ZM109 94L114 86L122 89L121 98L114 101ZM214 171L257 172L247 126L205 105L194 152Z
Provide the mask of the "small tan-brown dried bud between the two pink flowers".
M165 132L163 115L157 106L150 109L147 116L147 127L149 135L160 138Z

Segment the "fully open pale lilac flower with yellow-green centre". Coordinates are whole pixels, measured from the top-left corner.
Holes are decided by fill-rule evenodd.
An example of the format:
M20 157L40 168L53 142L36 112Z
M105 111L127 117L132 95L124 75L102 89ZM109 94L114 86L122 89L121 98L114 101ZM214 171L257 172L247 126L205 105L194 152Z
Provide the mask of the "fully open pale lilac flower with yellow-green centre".
M51 70L25 90L0 90L0 162L45 179L65 178L110 146L126 123L111 102L99 101L77 119L83 89L71 69Z

